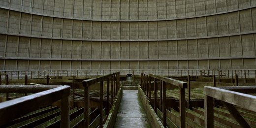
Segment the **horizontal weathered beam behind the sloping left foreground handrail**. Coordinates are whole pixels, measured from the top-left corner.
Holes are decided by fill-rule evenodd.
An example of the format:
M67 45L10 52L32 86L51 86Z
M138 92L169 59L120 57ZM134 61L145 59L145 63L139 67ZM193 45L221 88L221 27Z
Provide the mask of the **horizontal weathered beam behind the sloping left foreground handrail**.
M55 85L1 85L0 93L38 93L62 86Z

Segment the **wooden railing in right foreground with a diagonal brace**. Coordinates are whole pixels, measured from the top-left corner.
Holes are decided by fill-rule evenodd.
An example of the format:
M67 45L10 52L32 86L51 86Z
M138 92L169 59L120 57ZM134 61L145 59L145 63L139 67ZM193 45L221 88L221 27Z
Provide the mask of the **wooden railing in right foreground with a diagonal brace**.
M204 87L205 128L214 128L214 98L222 101L240 126L250 128L234 105L256 112L256 96L248 95L255 92L256 86Z

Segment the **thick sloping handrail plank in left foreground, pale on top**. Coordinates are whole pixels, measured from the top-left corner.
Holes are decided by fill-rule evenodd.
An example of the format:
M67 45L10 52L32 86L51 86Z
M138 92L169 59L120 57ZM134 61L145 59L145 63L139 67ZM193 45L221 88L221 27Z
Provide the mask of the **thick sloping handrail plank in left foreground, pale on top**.
M2 102L0 103L0 126L31 111L43 108L59 99L69 96L69 93L69 86L61 86L30 96Z

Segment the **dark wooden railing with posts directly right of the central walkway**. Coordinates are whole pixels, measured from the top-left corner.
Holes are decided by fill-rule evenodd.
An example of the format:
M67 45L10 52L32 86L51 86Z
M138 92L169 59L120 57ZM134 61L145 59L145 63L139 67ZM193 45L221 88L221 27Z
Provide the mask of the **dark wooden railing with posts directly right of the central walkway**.
M186 125L186 115L185 115L185 107L186 107L186 99L185 99L185 89L188 87L186 82L175 80L172 78L162 77L159 75L153 74L143 74L141 73L141 88L146 96L151 100L151 80L154 79L154 110L157 113L157 81L160 81L160 103L162 106L163 112L163 126L166 127L166 83L177 86L180 89L180 128L185 128Z

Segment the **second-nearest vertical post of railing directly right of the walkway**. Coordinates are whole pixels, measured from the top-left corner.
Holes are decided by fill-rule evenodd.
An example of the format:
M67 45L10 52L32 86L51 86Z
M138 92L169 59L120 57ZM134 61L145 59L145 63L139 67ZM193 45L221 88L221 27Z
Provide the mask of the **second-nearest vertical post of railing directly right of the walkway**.
M166 127L166 84L162 81L162 114L163 114L163 127Z

